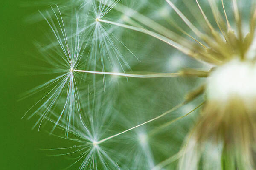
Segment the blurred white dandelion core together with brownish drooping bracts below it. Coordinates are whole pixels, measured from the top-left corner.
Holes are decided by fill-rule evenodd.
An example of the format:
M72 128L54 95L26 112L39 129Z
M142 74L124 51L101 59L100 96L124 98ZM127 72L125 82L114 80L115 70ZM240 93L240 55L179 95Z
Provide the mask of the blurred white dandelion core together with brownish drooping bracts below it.
M255 74L255 63L240 59L212 71L207 78L207 100L189 134L180 169L198 169L200 155L206 157L206 169L254 169Z

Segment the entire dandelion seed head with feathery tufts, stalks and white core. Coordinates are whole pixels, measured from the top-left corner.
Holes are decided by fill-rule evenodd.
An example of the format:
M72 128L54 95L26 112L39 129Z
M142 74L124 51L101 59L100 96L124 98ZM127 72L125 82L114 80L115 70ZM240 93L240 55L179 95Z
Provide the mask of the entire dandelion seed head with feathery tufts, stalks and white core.
M79 170L256 168L253 0L68 4L39 11L55 77L26 94L48 90L29 118L74 144L54 156Z

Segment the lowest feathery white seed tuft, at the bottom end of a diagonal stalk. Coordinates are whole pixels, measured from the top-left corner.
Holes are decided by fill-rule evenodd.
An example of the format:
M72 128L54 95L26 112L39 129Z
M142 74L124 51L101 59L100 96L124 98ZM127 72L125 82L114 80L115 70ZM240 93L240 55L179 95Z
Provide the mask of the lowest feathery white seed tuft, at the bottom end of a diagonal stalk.
M75 145L72 147L48 149L55 152L51 156L73 156L75 161L69 167L80 163L79 170L99 168L119 169L119 165L114 159L117 156L111 158L109 155L113 156L113 152L96 143L100 136L108 132L108 126L114 126L112 123L114 117L111 115L114 109L110 105L106 105L99 98L95 98L92 102L88 99L82 107L86 112L82 114L82 117L78 115L74 116L77 123L70 125L69 136L57 135L73 142ZM58 113L51 112L54 117L58 118ZM101 117L101 119L98 119L98 117ZM54 119L47 119L55 124ZM66 126L67 122L61 119L57 127L66 131ZM57 151L62 153L56 154Z

